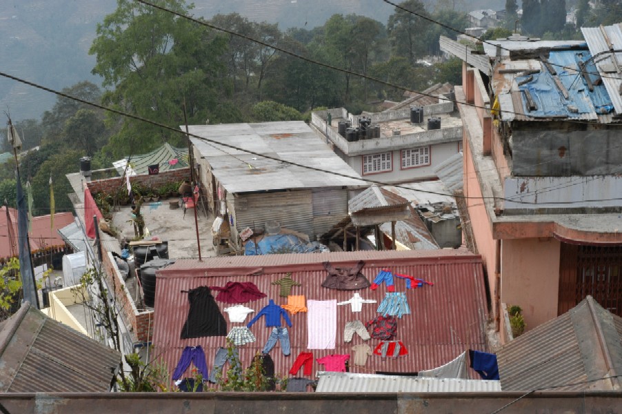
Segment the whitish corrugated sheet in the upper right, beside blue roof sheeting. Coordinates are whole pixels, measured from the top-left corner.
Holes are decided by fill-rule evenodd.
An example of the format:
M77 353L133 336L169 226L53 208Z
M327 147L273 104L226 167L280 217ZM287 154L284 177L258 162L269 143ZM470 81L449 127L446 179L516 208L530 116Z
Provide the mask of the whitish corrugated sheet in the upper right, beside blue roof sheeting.
M616 113L622 114L622 96L620 95L622 74L617 70L612 71L612 68L615 68L615 61L618 62L619 66L622 65L622 53L619 52L619 50L622 50L622 28L620 28L619 24L614 24L613 26L603 27L603 30L612 43L613 49L618 52L610 52L609 45L605 40L605 34L603 34L601 28L581 28L581 33L583 33L585 41L588 42L588 48L590 48L592 56L598 56L598 59L595 59L596 68L598 68L601 74L601 79L603 79L605 88L607 88ZM622 68L622 66L620 67Z

